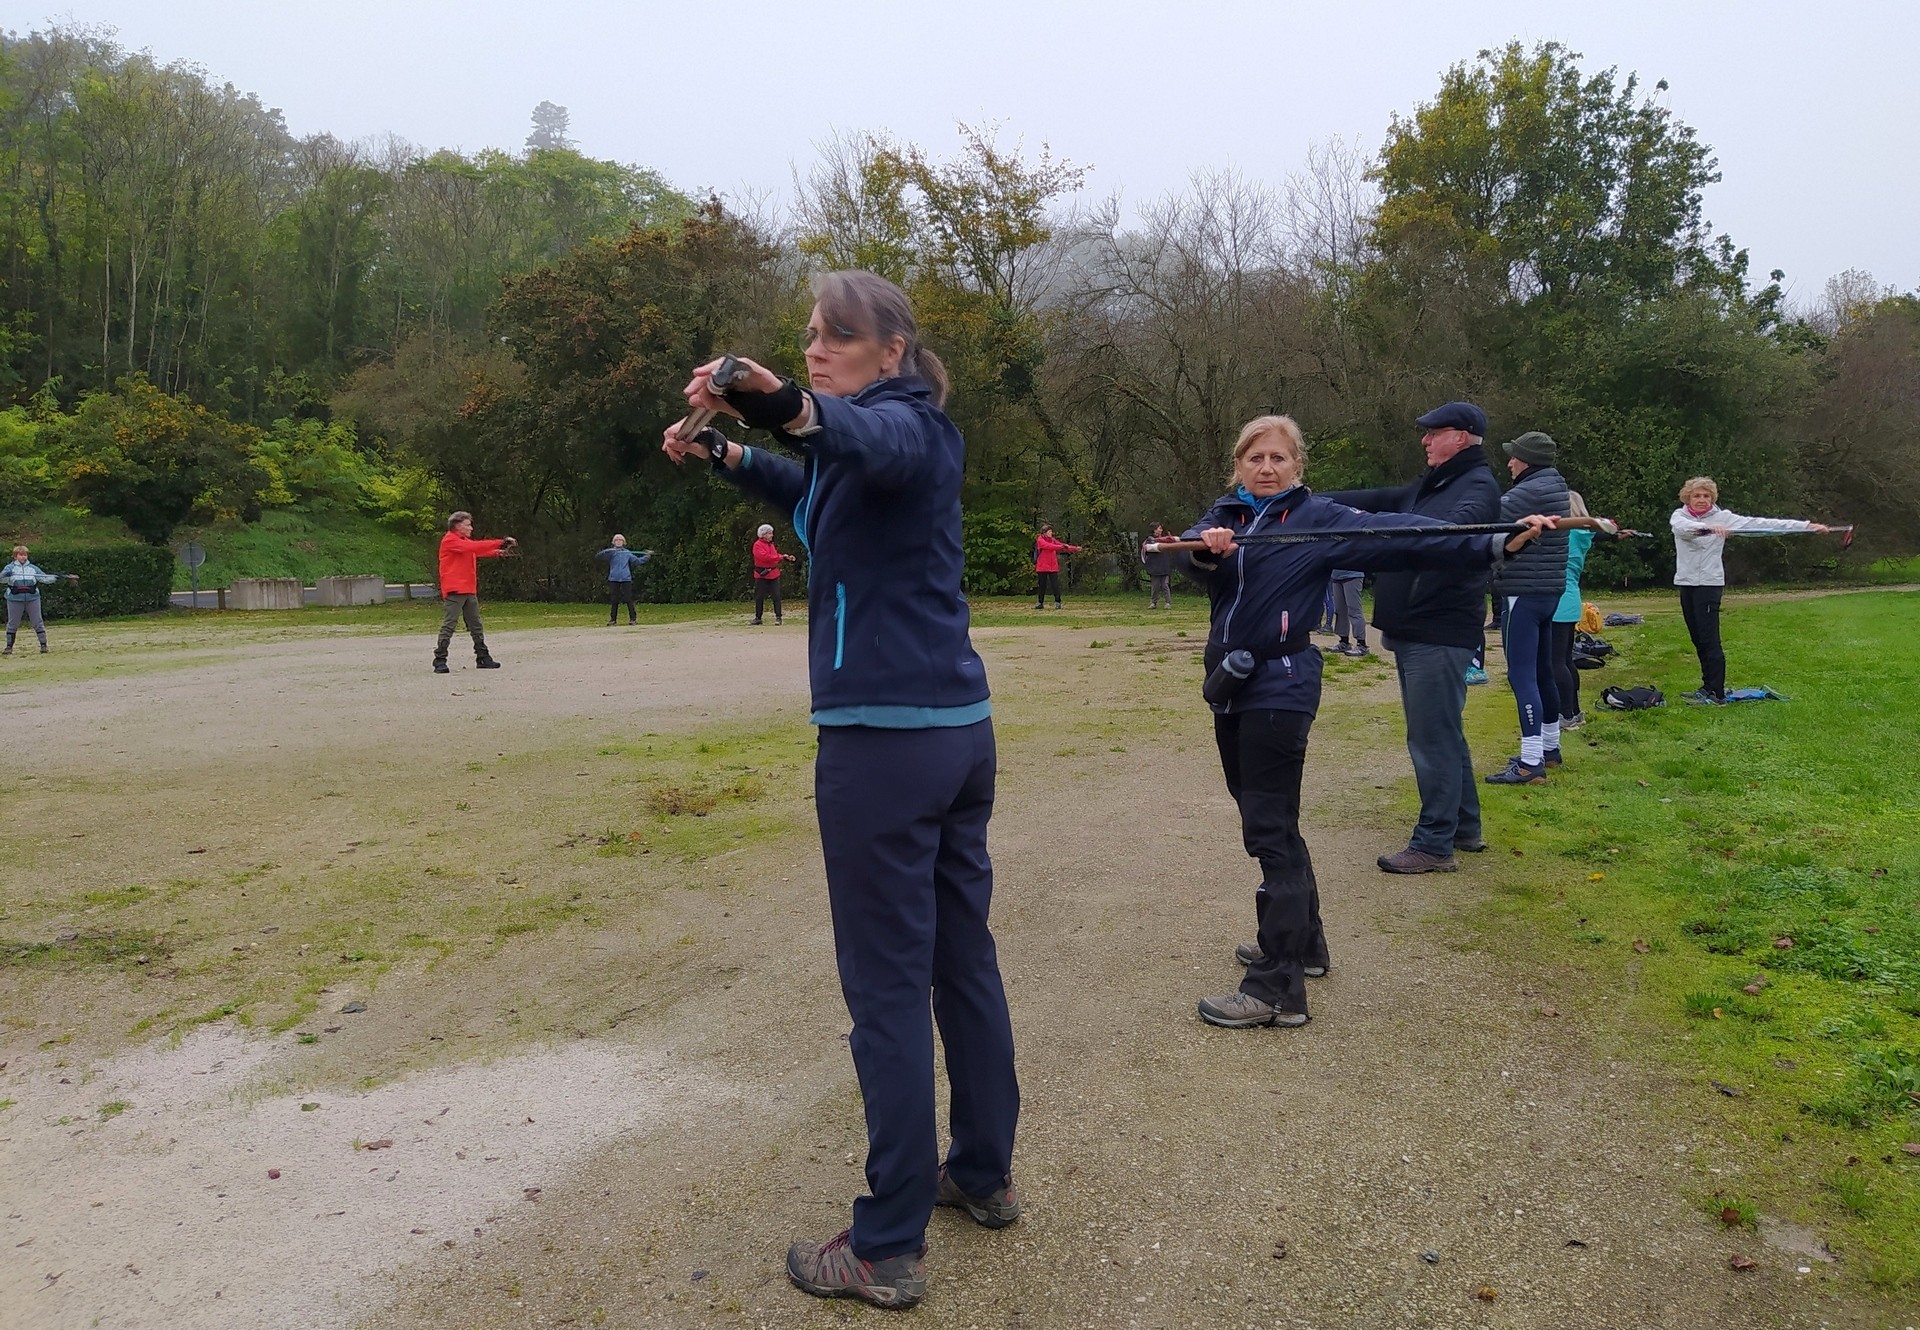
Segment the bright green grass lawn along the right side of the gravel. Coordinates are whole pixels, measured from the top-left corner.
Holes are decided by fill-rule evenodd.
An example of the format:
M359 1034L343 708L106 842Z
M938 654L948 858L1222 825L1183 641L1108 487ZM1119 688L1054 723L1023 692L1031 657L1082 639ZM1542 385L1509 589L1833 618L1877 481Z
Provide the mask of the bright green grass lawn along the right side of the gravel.
M1761 1211L1820 1224L1849 1269L1910 1294L1920 595L1730 601L1728 681L1793 701L1724 708L1680 702L1699 674L1678 612L1645 608L1644 628L1609 631L1620 658L1582 676L1590 725L1551 785L1482 791L1507 852L1475 925L1571 975L1563 996L1597 1038L1676 1067L1676 1109L1715 1125ZM1667 708L1599 708L1603 683L1644 681ZM1513 702L1475 693L1490 770L1513 750Z

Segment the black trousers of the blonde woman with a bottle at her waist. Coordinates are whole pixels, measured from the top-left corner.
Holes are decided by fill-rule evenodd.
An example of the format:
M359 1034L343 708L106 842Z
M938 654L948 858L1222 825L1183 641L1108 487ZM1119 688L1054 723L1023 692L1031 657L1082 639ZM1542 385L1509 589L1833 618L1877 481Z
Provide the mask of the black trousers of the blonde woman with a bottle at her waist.
M1283 1011L1308 1009L1308 965L1327 963L1319 883L1300 837L1300 773L1308 760L1304 712L1250 710L1213 718L1213 743L1227 793L1240 806L1240 841L1260 860L1254 910L1261 960L1246 967L1240 992Z

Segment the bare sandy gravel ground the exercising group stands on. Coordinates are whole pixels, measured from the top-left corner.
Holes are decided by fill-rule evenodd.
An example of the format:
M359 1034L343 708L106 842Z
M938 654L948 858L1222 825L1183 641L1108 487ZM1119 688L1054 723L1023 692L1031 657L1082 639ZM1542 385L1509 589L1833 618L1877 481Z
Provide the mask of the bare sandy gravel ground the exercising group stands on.
M394 764L390 779L432 783L461 745L513 754L557 729L804 704L799 633L645 637L503 635L507 670L451 681L424 676L413 641L271 649L152 695L58 689L29 745L71 779L190 743L196 772L284 781L261 750L278 741L315 779ZM1198 664L1146 631L1133 649L1123 628L1098 629L1112 649L1089 637L977 633L1000 729L995 929L1027 1213L1002 1232L935 1215L920 1324L1876 1324L1826 1271L1761 1255L1732 1272L1728 1238L1686 1201L1718 1161L1657 1111L1668 1086L1594 1057L1578 1038L1590 1013L1563 1002L1542 1019L1524 975L1438 940L1428 921L1473 898L1473 862L1452 879L1373 867L1405 833L1375 812L1405 775L1375 704L1390 674L1338 672L1313 735L1306 829L1334 954L1313 1023L1202 1025L1196 998L1238 983L1256 871ZM476 701L453 697L468 689ZM159 818L142 806L125 835L163 835ZM0 1096L19 1100L0 1117L0 1307L27 1307L36 1330L843 1324L847 1305L781 1272L787 1242L837 1232L862 1188L818 843L756 844L737 864L730 894L680 892L649 915L653 938L570 927L484 963L396 971L328 1075L442 1065L371 1092L286 1094L292 1033L98 1061L0 1038ZM520 1048L480 1040L490 1063L447 1052L463 1019L505 1006L543 1013ZM223 1056L238 1061L194 1079ZM132 1107L58 1125L109 1096ZM428 1125L442 1107L451 1121ZM355 1152L353 1136L396 1144ZM142 1242L163 1269L121 1255ZM250 1318L228 1320L228 1299Z

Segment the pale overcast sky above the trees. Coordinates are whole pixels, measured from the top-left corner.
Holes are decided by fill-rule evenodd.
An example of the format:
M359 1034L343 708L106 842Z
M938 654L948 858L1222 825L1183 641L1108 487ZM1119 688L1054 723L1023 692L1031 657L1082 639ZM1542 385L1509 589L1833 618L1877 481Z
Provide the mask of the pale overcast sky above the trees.
M1920 286L1916 0L81 0L0 27L100 23L257 92L296 134L520 148L551 100L595 157L783 198L835 129L935 155L954 123L1092 167L1131 203L1198 169L1284 180L1308 146L1377 148L1442 71L1509 38L1667 79L1715 148L1716 230L1797 301L1843 269Z

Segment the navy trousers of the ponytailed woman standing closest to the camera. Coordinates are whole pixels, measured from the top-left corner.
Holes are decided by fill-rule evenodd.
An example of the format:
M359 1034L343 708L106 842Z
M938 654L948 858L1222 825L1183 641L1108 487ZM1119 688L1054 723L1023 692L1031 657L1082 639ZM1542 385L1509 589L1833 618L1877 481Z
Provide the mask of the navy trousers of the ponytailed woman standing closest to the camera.
M941 1165L935 1021L952 1096L948 1175L960 1190L985 1196L1012 1173L1014 1027L987 929L993 783L991 720L820 729L814 804L866 1102L872 1194L852 1205L852 1249L864 1261L925 1246Z

